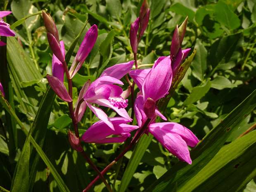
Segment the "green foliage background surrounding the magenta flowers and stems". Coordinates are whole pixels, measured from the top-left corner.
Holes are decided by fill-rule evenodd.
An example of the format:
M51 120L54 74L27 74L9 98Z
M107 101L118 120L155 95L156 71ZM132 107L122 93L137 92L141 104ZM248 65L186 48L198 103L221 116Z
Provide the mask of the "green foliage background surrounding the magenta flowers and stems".
M6 2L0 2L1 11ZM94 81L109 66L133 60L129 29L142 2L8 2L12 14L7 22L16 37L7 38L7 48L0 47L0 82L8 101L0 95L1 191L82 191L96 177L69 145L67 131L72 130L72 121L67 104L47 88L45 76L51 74L52 52L40 10L47 9L54 19L69 66L86 31L93 24L98 26L95 46L73 78L75 104L85 81ZM138 47L139 64L170 55L174 28L188 16L182 47L191 48L190 55L196 49L196 54L164 115L190 128L202 141L192 149L193 163L187 165L152 135L144 135L105 178L119 192L255 191L256 132L237 137L256 122L256 2L149 0L149 7L149 25ZM81 37L73 43L87 20ZM130 105L126 109L130 112ZM105 111L110 117L116 115ZM86 110L80 133L96 121ZM83 143L83 147L102 170L123 145ZM98 182L91 191L107 190Z

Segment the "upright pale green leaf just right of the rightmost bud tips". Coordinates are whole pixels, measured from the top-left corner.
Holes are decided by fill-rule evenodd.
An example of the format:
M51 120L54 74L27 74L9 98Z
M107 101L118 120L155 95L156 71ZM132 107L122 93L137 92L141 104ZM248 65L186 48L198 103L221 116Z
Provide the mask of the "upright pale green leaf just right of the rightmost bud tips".
M196 40L197 54L194 56L194 62L191 64L192 74L200 81L204 80L204 74L207 69L207 50L199 39Z

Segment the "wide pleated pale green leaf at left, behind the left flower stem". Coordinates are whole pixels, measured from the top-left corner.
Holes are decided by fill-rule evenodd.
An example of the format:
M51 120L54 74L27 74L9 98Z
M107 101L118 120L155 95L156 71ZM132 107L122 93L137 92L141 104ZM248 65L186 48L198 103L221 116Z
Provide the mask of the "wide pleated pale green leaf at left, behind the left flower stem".
M26 87L21 82L30 82L43 79L40 71L36 69L29 55L19 45L14 37L9 37L7 43L7 61L10 69L10 77L17 99L22 109L30 114L36 114L31 106L37 106L40 100L38 92L32 87ZM40 83L40 88L46 89L46 85ZM40 94L39 94L40 95ZM26 101L26 102L24 102ZM28 104L31 104L29 106ZM34 116L32 116L33 118Z

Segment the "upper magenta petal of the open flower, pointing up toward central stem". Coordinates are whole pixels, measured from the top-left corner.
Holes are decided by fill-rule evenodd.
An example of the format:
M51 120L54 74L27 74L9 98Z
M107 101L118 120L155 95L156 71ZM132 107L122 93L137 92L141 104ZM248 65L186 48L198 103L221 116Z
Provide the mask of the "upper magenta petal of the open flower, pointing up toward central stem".
M121 79L132 69L134 61L130 61L127 63L116 64L111 66L103 71L102 76L111 76L117 79Z

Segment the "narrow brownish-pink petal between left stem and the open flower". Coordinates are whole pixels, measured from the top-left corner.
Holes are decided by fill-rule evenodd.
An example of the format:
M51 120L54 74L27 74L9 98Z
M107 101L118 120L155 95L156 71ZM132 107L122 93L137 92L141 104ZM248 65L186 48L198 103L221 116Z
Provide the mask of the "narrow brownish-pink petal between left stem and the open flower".
M81 91L79 92L79 95L78 95L78 100L76 102L76 108L75 108L75 116L76 116L76 120L77 122L80 122L82 117L83 117L83 114L85 112L85 109L87 107L87 104L86 102L83 102L80 107L78 107L78 103L80 102L80 100L83 100L83 95L85 95L85 92L87 91L87 89L89 88L90 86L90 79L88 81L85 82L85 84L83 85L83 88L81 89ZM78 110L78 111L77 111Z

